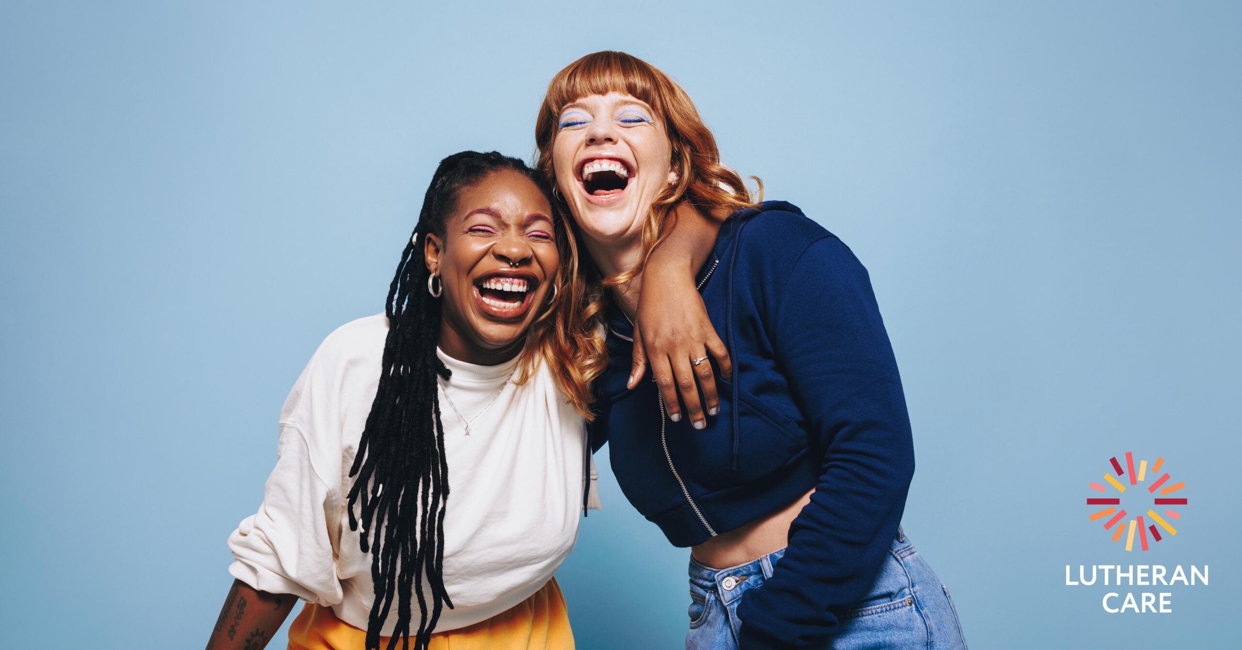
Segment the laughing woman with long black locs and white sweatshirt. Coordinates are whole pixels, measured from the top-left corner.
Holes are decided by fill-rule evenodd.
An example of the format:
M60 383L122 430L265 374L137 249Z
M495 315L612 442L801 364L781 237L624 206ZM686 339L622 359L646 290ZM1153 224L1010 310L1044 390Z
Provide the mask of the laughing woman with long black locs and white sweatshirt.
M291 648L573 645L551 574L586 507L584 387L600 368L575 352L590 314L575 308L576 252L555 219L520 160L463 152L440 164L385 313L329 336L286 401L265 503L230 537L237 579L209 648L263 648L289 594L309 603ZM501 434L520 445L486 451ZM580 460L503 457L538 462L534 447ZM330 466L334 452L351 460ZM503 502L501 483L535 475L555 512ZM505 533L472 513L499 508L530 543L476 562ZM479 580L501 595L474 593Z

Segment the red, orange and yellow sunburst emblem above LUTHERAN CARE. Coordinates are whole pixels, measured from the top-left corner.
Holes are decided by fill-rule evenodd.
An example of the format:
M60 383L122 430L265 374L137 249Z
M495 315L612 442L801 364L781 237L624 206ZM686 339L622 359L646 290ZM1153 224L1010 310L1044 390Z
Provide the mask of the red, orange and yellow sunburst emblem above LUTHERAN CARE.
M1118 493L1124 493L1125 488L1126 488L1126 486L1123 485L1122 481L1118 481L1118 478L1128 476L1129 481L1130 481L1130 487L1134 487L1134 486L1144 482L1144 478L1146 477L1148 474L1150 474L1153 477L1160 475L1160 467L1164 465L1164 459L1163 457L1158 457L1156 462L1151 466L1151 471L1149 472L1148 471L1148 461L1140 461L1139 462L1139 471L1135 472L1134 471L1134 454L1130 452L1130 451L1125 452L1125 469L1124 470L1122 469L1122 464L1117 461L1117 456L1113 456L1112 459L1108 459L1108 460L1109 460L1109 462L1113 464L1113 471L1117 472L1117 476L1114 477L1112 474L1104 474L1104 481L1107 481L1110 486L1113 486L1114 488L1117 488ZM1104 510L1102 510L1099 512L1092 513L1089 518L1090 518L1090 521L1099 521L1099 520L1103 520L1104 517L1108 517L1108 521L1104 522L1104 529L1108 531L1108 529L1113 528L1113 526L1117 526L1117 531L1113 532L1113 541L1114 542L1120 542L1122 541L1122 534L1125 534L1125 549L1126 551L1134 551L1134 532L1138 531L1138 533L1139 533L1139 546L1141 547L1143 551L1146 551L1148 549L1148 532L1151 533L1151 543L1153 544L1164 538L1160 534L1160 529L1156 528L1156 524L1160 524L1160 528L1164 528L1164 531L1166 533L1169 533L1169 537L1172 537L1172 536L1177 534L1177 529L1174 528L1164 517L1161 517L1160 515L1158 515L1156 511L1155 511L1155 507L1158 507L1158 506L1185 506L1186 505L1186 498L1185 497L1181 497L1181 498L1169 497L1169 495L1171 495L1171 493L1174 493L1174 492L1176 492L1176 491L1186 487L1186 483L1182 482L1182 481L1179 481L1179 482L1176 482L1174 485L1165 486L1165 483L1167 483L1167 482L1169 482L1169 474L1165 472L1163 476L1160 476L1160 478L1156 478L1154 483L1151 483L1150 486L1148 486L1148 492L1150 492L1154 496L1156 493L1156 490L1159 490L1160 491L1160 496L1155 497L1154 502L1153 502L1153 507L1148 508L1148 512L1145 515L1146 520L1144 520L1144 516L1140 515L1140 516L1138 516L1138 517L1135 517L1133 520L1129 520L1129 522L1126 522L1126 520L1125 520L1126 512L1124 510L1119 511L1119 508L1122 506L1120 497L1088 497L1087 498L1087 505L1088 506L1109 506L1109 507L1107 507L1107 508L1104 508ZM1095 481L1090 482L1090 488L1094 490L1094 491L1097 491L1097 492L1108 492L1107 487L1097 483ZM1172 508L1167 508L1167 510L1165 510L1165 517L1169 517L1170 520L1180 520L1181 515L1179 515ZM1126 531L1129 531L1129 533L1126 533Z

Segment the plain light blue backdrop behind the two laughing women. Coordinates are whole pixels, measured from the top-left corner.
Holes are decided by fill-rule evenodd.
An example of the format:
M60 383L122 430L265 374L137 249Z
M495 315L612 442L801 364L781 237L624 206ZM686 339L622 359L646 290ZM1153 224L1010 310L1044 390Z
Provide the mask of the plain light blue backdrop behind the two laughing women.
M448 5L4 1L2 645L202 646L279 405L381 309L437 160L529 157L548 80L601 48L871 270L905 529L972 648L1236 643L1238 5ZM1148 553L1083 505L1128 450L1191 498ZM687 552L600 460L559 573L579 645L677 648ZM1063 584L1102 563L1211 584L1105 614Z

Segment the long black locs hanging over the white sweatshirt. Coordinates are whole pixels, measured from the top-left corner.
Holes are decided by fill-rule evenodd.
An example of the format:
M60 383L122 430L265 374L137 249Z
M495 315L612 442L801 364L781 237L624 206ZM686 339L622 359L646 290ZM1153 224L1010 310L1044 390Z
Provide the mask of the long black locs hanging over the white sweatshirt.
M517 158L497 152L461 152L445 158L431 178L419 224L389 287L389 333L379 389L349 470L355 477L349 490L349 528L356 531L361 523L360 546L371 553L375 583L368 650L380 646L380 628L394 597L397 623L388 650L396 648L397 639L402 639L402 648L410 648L411 597L419 599L415 650L427 648L442 608L453 607L443 580L448 466L436 379L448 379L450 370L436 355L440 301L427 291L430 272L422 245L430 232L443 237L462 189L505 169L528 176L553 203L543 176Z

